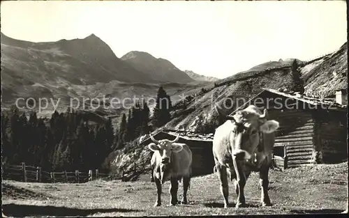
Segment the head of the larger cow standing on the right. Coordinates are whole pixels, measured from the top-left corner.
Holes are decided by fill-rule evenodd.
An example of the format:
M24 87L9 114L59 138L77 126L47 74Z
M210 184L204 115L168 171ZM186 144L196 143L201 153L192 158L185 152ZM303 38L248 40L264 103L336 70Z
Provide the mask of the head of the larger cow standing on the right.
M237 160L250 159L260 143L260 133L272 133L279 128L276 120L267 120L267 109L263 114L254 105L237 111L233 116L223 115L217 108L218 114L231 121L230 145L231 154Z

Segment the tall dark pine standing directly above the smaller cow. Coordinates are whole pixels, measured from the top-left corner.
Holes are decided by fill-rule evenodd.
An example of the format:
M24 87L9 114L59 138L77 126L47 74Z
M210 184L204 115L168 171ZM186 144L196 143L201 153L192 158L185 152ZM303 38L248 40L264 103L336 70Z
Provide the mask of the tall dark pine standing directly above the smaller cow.
M154 125L161 127L171 119L170 108L172 107L170 97L166 94L161 86L158 89L156 106L154 107Z

